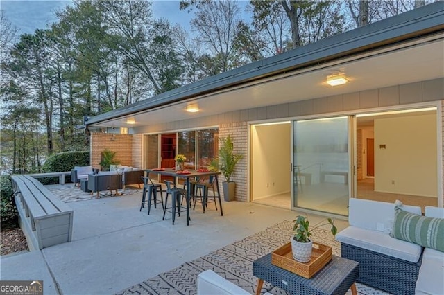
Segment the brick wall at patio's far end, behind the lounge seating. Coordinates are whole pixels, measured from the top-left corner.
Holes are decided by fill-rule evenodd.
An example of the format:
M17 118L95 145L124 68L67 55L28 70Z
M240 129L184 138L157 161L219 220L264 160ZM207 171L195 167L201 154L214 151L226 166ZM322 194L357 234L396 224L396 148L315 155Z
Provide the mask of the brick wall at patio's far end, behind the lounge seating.
M116 160L120 161L121 165L132 166L133 165L132 145L133 145L132 135L93 132L91 134L91 144L90 144L91 165L94 168L100 168L101 152L108 148L108 150L116 152Z

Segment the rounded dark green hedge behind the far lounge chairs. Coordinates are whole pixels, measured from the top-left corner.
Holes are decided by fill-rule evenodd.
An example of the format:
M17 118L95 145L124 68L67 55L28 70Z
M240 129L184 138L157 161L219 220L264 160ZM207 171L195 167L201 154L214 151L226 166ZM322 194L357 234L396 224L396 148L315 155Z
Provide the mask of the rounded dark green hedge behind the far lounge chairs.
M49 157L42 166L42 172L71 171L74 166L89 166L89 151L60 152ZM42 184L58 184L58 177L40 179ZM65 177L65 182L71 182L71 176Z

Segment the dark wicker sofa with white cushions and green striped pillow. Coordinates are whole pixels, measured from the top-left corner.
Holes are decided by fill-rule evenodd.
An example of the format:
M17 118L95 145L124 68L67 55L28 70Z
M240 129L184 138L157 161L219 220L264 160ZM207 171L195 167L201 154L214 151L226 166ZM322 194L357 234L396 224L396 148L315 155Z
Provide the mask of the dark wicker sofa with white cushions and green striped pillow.
M411 235L413 240L427 235L412 222L425 222L427 217L437 217L434 225L441 224L441 231L432 227L434 245L443 242L444 208L427 206L422 216L420 207L400 202L350 199L349 205L350 226L336 240L341 242L343 258L359 262L358 282L391 294L444 294L443 250L424 249L422 241L408 242Z

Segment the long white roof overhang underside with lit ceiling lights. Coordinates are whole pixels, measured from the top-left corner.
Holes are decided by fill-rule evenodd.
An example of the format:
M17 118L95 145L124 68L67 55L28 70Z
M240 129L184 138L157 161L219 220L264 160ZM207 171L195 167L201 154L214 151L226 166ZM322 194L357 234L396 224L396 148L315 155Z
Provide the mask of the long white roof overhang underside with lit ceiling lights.
M345 73L350 82L331 87L325 83L325 79L337 70ZM198 103L198 113L185 111L190 101L178 102L133 114L131 117L135 118L135 125L128 125L126 116L94 126L139 127L443 77L444 40L441 35L434 36L429 42L398 44L381 52L374 51L371 55L343 58L318 68L312 67L297 73L244 84L236 89L225 89L219 93L196 97L191 101Z

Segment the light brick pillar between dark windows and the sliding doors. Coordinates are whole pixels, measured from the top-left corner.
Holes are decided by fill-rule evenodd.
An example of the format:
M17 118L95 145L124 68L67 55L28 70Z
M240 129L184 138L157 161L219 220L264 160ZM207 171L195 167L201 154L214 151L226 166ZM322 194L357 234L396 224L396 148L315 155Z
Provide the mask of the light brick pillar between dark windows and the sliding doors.
M228 137L230 135L235 154L243 154L244 157L239 161L234 173L231 177L232 181L236 181L236 192L234 199L242 202L249 202L247 194L247 163L248 163L248 124L246 122L229 123L219 125L219 136ZM219 178L220 190L222 190L222 181L225 181L224 177Z

